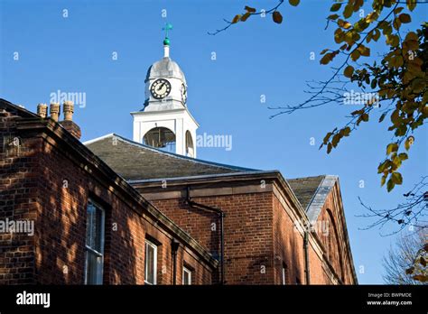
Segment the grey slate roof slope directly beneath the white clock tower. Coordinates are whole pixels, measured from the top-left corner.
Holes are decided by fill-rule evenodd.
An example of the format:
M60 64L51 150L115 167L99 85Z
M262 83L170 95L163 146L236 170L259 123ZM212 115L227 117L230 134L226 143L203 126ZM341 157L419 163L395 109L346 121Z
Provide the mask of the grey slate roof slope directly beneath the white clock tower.
M126 180L147 180L255 171L206 162L107 134L84 143L103 162Z

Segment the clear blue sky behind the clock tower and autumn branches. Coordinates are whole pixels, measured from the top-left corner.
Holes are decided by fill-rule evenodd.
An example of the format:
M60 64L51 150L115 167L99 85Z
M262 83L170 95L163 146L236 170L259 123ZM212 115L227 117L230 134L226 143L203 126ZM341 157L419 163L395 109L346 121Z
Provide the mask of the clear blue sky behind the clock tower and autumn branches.
M270 120L267 106L301 102L306 80L322 80L331 69L321 66L319 52L334 47L324 30L330 1L307 0L298 7L284 4L284 22L270 16L251 17L227 32L222 18L258 9L276 1L0 1L0 97L35 111L57 90L86 93L86 106L74 120L86 141L116 133L132 138L132 117L144 103L148 67L163 57L163 24L173 24L171 57L188 83L188 106L200 123L199 134L229 134L233 148L200 148L198 157L262 170L280 170L285 178L340 176L350 244L358 281L383 283L381 258L395 236L377 229L360 230L370 221L358 196L374 208L394 207L427 173L426 125L415 134L410 161L402 173L403 187L381 189L377 165L392 134L372 118L327 155L318 147L323 136L347 122L358 107L324 106ZM68 10L68 17L63 17ZM166 9L167 18L162 12ZM414 14L423 22L427 12ZM408 26L407 26L408 25ZM310 60L311 52L317 54ZM19 59L14 60L18 52ZM112 54L117 53L117 60ZM212 52L216 60L211 60ZM382 52L382 51L377 51ZM265 95L266 102L260 97ZM315 138L315 145L310 139ZM364 180L364 188L360 188ZM395 226L394 226L395 227ZM393 230L386 227L383 232ZM361 266L364 267L364 272Z

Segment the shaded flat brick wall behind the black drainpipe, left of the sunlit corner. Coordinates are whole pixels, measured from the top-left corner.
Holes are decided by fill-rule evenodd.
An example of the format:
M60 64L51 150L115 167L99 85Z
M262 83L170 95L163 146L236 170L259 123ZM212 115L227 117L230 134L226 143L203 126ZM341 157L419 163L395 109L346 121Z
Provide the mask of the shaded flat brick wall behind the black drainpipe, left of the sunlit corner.
M271 193L249 193L192 198L193 201L221 209L225 228L225 267L228 284L271 283L272 198ZM220 252L219 215L191 208L185 199L152 200L166 216L209 249ZM219 273L216 280L219 281Z

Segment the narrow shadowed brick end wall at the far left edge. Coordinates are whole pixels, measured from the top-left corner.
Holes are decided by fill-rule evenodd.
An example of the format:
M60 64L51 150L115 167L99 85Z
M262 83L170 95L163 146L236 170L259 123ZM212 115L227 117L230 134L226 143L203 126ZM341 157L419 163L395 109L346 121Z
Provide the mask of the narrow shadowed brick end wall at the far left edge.
M14 134L17 111L0 108L0 220L32 220L37 208L37 141L21 146ZM0 233L0 283L35 283L33 236Z

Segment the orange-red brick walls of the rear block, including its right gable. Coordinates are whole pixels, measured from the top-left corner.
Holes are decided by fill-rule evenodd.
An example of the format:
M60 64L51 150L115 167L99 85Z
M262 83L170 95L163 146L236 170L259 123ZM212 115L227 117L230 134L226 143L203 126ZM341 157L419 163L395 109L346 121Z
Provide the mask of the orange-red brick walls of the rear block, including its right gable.
M287 284L305 284L305 254L303 248L304 218L295 204L279 189L272 189L272 182L266 181L265 191L256 193L224 193L233 190L234 183L217 183L216 189L209 183L195 186L200 190L197 194L204 196L192 197L195 202L219 208L226 213L225 217L225 259L226 282L228 284L282 284L283 267ZM244 189L242 182L235 183ZM253 185L251 185L253 184ZM205 187L205 188L204 188ZM248 182L254 187L254 182ZM190 208L185 199L183 187L179 185L169 189L158 189L139 185L137 189L150 197L156 208L171 217L181 228L209 249L212 254L219 254L219 229L212 231L212 224L218 224L218 215L200 208ZM248 188L250 189L250 188ZM308 265L311 284L335 284L344 279L344 283L354 283L352 278L352 261L348 258L343 222L340 220L340 198L336 187L326 201L325 208L334 208L336 225L340 225L336 233L328 229L329 238L336 245L331 246L333 254L325 252L328 246L323 235L308 234ZM144 194L145 193L145 194ZM216 193L219 193L216 195ZM220 195L221 194L221 195ZM334 199L334 203L333 203ZM321 211L320 221L326 218ZM296 228L296 224L301 224ZM333 226L329 221L329 226ZM322 230L320 230L322 231ZM338 245L339 243L339 245ZM329 256L330 259L329 260ZM341 264L344 266L343 274ZM219 273L216 273L219 280Z

